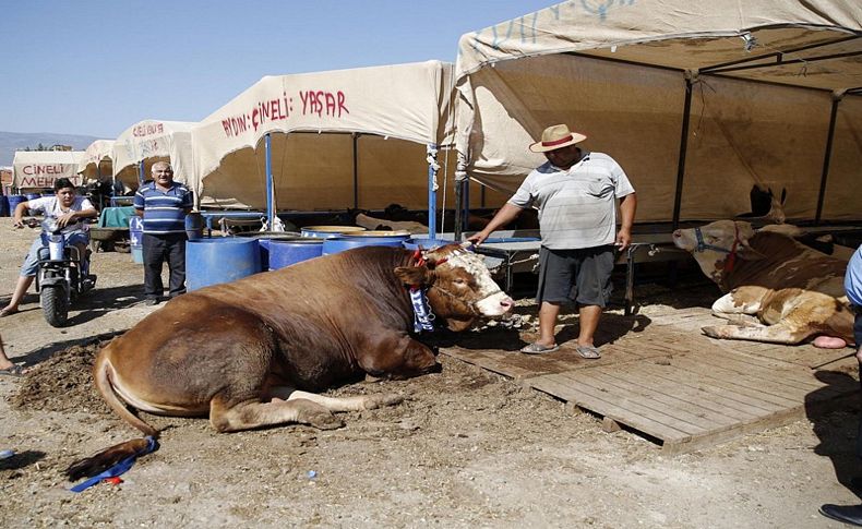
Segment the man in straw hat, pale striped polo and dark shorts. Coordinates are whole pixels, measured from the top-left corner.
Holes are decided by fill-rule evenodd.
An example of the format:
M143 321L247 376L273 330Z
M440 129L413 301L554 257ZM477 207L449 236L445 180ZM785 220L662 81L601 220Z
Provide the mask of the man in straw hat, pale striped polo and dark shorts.
M619 164L602 153L577 146L587 136L565 124L544 129L541 141L529 146L548 161L530 172L517 192L488 226L469 238L481 244L492 231L505 226L527 208L539 211L539 338L520 351L529 354L559 349L554 326L562 303L578 304L579 334L575 351L583 358L600 358L592 341L601 312L611 294L614 247L632 242L637 199ZM616 231L616 200L621 227Z

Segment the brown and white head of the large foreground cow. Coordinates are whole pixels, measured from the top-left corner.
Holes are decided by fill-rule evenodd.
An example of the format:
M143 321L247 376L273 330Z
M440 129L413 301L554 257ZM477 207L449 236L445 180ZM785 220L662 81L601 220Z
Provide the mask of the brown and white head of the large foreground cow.
M482 257L468 251L469 247L465 242L423 251L416 266L395 268L406 285L428 289L431 310L452 330L464 330L481 317L502 316L514 306L491 278Z

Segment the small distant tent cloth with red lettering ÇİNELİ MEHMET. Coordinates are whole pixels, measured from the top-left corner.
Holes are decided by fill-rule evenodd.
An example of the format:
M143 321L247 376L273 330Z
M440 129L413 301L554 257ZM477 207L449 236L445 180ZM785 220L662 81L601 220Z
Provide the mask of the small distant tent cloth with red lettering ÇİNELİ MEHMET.
M81 185L83 179L77 173L77 166L83 156L83 151L16 151L12 160L12 187L51 188L60 178Z

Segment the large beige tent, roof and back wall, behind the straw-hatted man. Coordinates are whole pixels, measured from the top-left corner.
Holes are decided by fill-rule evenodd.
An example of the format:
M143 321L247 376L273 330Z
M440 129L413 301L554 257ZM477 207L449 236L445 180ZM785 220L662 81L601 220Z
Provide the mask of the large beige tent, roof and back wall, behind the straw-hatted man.
M565 122L621 163L638 221L745 213L754 184L792 218L861 218L861 21L858 0L623 0L464 35L463 167L511 193Z

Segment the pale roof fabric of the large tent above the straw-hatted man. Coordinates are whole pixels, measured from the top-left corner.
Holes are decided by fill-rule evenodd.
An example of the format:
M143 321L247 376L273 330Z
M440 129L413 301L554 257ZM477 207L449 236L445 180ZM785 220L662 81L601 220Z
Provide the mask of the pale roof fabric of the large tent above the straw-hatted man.
M462 36L456 79L498 61L582 50L602 50L602 55L638 63L701 69L858 36L861 26L862 8L857 0L567 1ZM751 38L754 44L746 50ZM858 41L848 46L860 47ZM829 55L834 51L830 48ZM794 52L788 58L797 57ZM834 70L831 64L809 64L805 76ZM854 79L851 86L859 85Z

